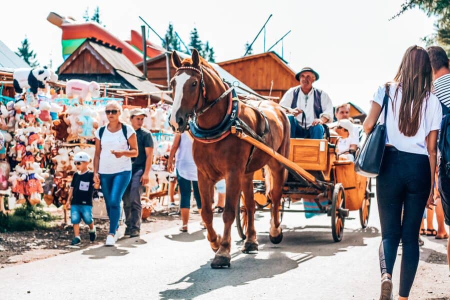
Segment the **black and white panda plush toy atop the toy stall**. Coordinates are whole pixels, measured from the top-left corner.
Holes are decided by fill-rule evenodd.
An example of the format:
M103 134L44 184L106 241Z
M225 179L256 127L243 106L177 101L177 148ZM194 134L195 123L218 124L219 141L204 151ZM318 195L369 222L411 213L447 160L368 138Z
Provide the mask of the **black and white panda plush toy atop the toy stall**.
M16 93L21 93L29 88L33 94L36 94L37 88L45 88L45 82L50 80L50 77L51 72L46 66L16 68L12 73L12 83Z

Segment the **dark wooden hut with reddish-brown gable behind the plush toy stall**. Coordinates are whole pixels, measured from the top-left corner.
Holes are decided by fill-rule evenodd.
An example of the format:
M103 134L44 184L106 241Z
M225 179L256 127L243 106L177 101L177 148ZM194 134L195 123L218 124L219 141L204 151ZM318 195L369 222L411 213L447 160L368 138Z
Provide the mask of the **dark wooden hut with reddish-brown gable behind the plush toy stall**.
M119 83L119 88L135 92L155 92L152 95L137 95L129 98L128 104L147 106L148 97L152 102L161 98L171 101L167 94L143 77L142 72L125 56L120 48L94 39L86 39L59 66L60 80L82 79L99 83Z

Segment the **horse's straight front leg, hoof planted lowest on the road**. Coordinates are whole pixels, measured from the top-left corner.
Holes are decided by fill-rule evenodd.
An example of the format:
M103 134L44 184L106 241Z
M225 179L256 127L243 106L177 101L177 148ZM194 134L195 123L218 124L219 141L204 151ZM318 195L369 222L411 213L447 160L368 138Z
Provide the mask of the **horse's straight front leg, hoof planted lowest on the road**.
M220 242L220 247L215 253L215 257L211 262L212 268L219 268L223 266L230 266L230 250L231 250L231 225L236 217L237 199L240 196L240 178L241 173L227 174L225 177L226 192L225 192L225 209L223 210L223 237Z

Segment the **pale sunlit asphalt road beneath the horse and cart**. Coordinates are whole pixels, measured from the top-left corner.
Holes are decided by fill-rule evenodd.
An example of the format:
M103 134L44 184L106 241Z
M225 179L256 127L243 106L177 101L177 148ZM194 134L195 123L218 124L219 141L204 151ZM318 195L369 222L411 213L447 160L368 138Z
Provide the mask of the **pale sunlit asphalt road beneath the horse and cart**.
M93 246L2 268L0 299L378 299L376 203L366 229L360 228L357 211L350 212L354 219L346 220L338 243L332 240L329 217L285 213L284 238L273 245L269 217L267 212L256 215L255 254L239 251L242 242L233 227L229 269L210 268L213 252L195 222L187 233L168 228L121 239L117 247ZM220 217L214 224L221 231ZM425 239L411 299L450 297L444 252L443 241ZM430 262L433 255L441 262ZM399 265L398 260L395 290Z

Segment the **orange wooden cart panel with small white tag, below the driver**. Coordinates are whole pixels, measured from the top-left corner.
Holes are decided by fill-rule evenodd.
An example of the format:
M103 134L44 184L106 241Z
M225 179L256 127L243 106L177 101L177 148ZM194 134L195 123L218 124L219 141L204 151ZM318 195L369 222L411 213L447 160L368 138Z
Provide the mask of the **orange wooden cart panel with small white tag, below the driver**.
M327 168L326 139L291 138L289 160L305 170L324 171Z

